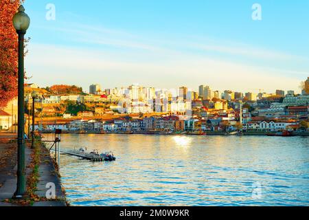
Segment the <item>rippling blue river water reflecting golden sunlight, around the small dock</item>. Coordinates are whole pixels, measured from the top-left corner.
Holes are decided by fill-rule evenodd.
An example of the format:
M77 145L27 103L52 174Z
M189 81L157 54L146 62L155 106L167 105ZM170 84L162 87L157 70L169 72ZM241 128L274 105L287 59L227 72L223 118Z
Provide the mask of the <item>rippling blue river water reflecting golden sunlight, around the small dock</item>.
M309 206L309 138L62 135L62 149L113 151L115 162L61 155L72 206Z

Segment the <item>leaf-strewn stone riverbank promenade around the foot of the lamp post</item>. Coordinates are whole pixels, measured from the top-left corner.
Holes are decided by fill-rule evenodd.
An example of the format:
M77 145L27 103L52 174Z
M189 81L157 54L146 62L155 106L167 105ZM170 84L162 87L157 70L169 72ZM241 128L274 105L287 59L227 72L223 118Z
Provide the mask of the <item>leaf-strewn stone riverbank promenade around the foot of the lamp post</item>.
M35 148L26 143L27 195L22 200L12 199L17 183L16 146L15 134L0 135L0 206L67 206L58 168L41 141L35 143ZM55 193L51 186L55 186Z

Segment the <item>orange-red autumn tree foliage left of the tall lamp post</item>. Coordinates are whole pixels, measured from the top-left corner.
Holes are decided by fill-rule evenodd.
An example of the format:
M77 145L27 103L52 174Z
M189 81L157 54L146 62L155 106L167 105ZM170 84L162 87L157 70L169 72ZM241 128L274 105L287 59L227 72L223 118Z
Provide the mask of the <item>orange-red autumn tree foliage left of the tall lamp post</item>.
M18 36L12 18L20 3L0 1L0 107L17 96Z

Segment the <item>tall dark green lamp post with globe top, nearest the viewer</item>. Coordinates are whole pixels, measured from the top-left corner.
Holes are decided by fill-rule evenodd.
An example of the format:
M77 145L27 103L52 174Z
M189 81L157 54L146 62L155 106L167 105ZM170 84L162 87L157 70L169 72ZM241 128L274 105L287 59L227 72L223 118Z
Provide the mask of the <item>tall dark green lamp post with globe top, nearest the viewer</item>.
M18 76L18 93L19 93L19 119L18 119L18 155L17 155L17 188L14 198L22 199L25 196L25 97L24 97L24 77L25 69L23 63L23 41L25 33L30 25L30 18L25 14L23 5L19 6L18 12L13 17L13 25L19 35L19 76Z

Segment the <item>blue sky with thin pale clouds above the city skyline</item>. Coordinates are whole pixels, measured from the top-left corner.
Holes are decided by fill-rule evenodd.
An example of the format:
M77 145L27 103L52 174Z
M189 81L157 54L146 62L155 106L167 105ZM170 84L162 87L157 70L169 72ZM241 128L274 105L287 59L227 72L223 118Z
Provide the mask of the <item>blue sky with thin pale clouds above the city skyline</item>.
M56 20L45 19L46 5ZM253 21L253 3L262 21ZM299 91L309 76L309 1L26 0L32 82Z

